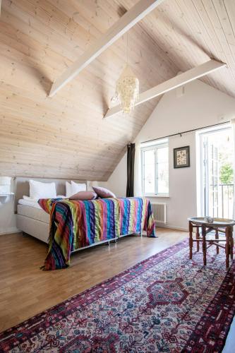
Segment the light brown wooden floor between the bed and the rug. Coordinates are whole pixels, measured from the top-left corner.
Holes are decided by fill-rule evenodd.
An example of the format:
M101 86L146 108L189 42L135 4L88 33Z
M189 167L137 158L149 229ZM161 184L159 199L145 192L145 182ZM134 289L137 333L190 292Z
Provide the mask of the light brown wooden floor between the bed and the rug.
M21 233L0 236L0 331L166 249L187 232L157 229L159 238L131 236L71 256L71 267L42 271L46 245Z

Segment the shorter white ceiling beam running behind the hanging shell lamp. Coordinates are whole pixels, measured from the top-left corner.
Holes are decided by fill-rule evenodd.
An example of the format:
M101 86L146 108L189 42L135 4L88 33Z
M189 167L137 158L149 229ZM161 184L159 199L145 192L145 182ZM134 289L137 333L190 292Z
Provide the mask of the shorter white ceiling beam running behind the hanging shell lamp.
M153 88L150 88L150 90L146 90L145 92L141 93L138 102L135 103L135 106L147 102L147 100L152 100L152 98L155 98L158 95L162 95L163 93L169 92L170 90L174 90L174 88L186 85L186 83L196 80L197 78L203 77L208 73L212 73L213 71L216 71L226 65L227 64L224 64L221 61L217 61L214 59L206 61L204 64L191 68L186 72L180 73L174 78L170 78L169 80L160 83L159 85ZM104 115L104 118L108 118L109 116L113 116L120 112L121 104L118 104L115 107L108 109L107 113Z

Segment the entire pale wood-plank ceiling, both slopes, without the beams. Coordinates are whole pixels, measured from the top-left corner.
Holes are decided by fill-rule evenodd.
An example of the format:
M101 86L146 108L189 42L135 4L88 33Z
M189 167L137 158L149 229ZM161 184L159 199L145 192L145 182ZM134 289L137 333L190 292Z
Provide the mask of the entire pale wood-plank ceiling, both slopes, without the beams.
M52 82L135 0L2 0L0 174L107 180L159 98L102 119L126 63L124 35L54 97ZM235 1L165 0L128 32L140 92L202 64L203 80L235 97ZM176 117L174 117L176 119Z

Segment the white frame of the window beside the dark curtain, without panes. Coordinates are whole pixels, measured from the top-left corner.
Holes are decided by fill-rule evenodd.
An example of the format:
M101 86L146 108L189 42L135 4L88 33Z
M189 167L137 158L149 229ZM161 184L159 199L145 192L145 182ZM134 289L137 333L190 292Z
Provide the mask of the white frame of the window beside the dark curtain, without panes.
M145 147L140 148L141 150L141 185L144 196L150 197L169 197L169 183L168 183L168 193L158 193L158 163L157 163L157 150L161 148L168 148L168 176L169 176L169 141L164 140L159 143L146 145ZM144 152L147 150L154 150L155 155L155 192L154 193L145 193L145 178L144 178Z

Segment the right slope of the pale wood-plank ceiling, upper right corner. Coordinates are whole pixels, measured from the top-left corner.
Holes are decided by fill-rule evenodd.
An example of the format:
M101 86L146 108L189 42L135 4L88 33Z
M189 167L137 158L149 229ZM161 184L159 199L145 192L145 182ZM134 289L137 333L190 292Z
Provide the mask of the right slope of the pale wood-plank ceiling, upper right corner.
M179 71L202 64L208 57L227 63L227 68L201 80L235 97L233 0L164 1L143 22Z

